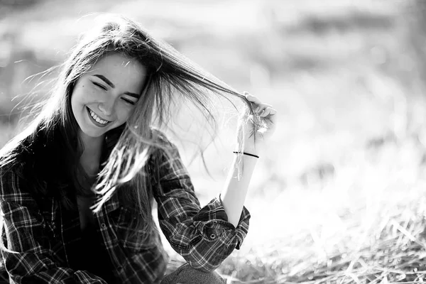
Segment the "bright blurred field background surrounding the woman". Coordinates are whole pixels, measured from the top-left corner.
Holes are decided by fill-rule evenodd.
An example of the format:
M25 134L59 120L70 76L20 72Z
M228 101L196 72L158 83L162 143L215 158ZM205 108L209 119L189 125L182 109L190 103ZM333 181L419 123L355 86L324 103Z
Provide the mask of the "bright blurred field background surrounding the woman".
M0 147L23 127L17 104L42 99L55 73L31 75L104 12L279 112L251 181L249 235L219 268L228 283L423 281L426 1L0 0ZM210 175L182 145L202 204L231 163L224 121Z

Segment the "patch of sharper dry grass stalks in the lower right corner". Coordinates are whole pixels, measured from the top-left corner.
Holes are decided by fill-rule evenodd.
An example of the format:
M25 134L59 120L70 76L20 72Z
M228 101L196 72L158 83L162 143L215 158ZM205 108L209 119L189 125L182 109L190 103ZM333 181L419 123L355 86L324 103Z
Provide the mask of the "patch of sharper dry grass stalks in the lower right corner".
M425 200L413 207L417 202L405 204L408 208L403 210L383 206L376 212L379 217L364 228L351 218L339 219L344 230L332 236L321 235L321 224L300 232L289 227L290 238L268 240L271 244L251 249L250 254L236 254L224 263L222 272L239 279L231 283L422 281Z

